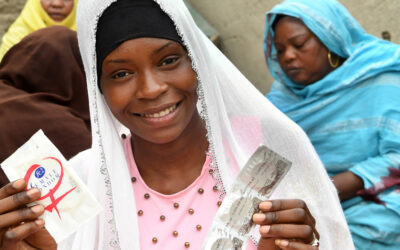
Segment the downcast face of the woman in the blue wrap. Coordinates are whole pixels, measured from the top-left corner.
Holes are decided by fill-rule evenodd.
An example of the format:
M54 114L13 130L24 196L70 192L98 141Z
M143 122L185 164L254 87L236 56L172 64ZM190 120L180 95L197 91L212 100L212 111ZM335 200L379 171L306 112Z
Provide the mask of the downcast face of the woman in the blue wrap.
M312 84L333 70L327 48L296 18L285 16L278 21L275 48L282 70L295 83Z

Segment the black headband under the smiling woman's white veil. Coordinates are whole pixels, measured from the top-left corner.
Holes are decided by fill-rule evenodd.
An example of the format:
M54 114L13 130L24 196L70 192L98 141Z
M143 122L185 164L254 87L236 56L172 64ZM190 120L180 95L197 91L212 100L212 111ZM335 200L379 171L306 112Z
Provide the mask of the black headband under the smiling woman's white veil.
M163 38L182 43L171 18L153 0L118 0L101 15L96 31L97 75L103 60L127 40Z

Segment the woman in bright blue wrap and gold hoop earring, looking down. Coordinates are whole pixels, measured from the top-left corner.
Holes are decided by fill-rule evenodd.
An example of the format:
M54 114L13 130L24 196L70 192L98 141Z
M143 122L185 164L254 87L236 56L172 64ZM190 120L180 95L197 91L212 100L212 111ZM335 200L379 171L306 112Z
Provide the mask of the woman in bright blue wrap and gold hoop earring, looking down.
M400 249L400 46L365 33L334 0L267 14L268 99L308 134L357 249Z

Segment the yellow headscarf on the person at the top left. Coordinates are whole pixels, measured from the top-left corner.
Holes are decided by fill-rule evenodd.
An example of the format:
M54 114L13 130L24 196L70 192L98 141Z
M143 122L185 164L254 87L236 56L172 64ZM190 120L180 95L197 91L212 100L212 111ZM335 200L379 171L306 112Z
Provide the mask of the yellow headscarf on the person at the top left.
M40 0L27 0L21 15L3 36L0 46L0 61L12 46L38 29L60 25L76 31L75 16L77 3L78 0L74 0L74 7L71 13L63 21L56 22L43 9Z

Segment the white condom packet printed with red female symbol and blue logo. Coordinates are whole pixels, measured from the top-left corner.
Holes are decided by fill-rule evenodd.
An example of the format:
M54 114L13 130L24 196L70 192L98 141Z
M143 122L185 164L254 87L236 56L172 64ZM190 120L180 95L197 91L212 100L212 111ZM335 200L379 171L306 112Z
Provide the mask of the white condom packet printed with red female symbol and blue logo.
M45 207L41 218L57 243L102 210L42 130L1 163L1 167L10 181L24 178L28 188L41 190L41 198L28 206L41 204Z

